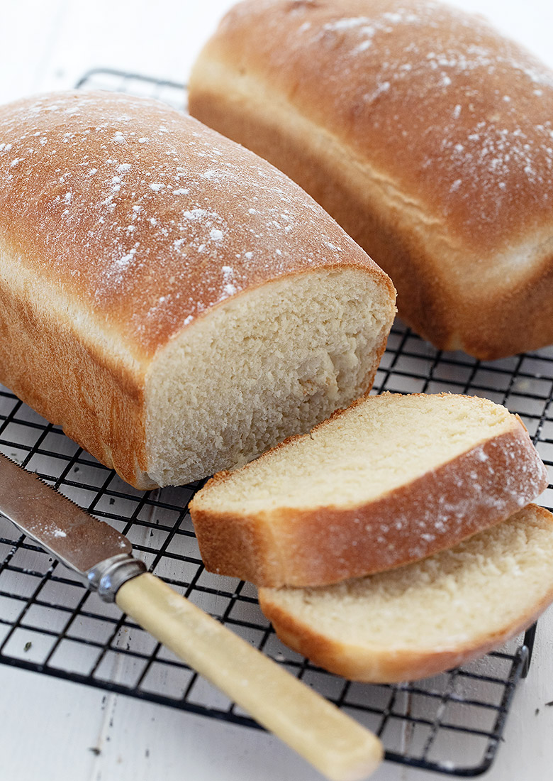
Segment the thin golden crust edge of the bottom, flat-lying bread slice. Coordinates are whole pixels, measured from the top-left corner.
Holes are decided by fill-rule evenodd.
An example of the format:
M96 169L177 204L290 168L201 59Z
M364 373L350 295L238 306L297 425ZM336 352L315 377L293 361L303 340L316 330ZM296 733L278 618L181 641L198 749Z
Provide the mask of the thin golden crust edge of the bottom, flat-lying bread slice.
M542 519L551 522L551 513L547 510L537 505L530 505L530 508ZM541 600L529 605L526 613L514 624L505 622L500 629L484 631L454 647L420 650L413 647L370 647L367 644L337 641L283 608L278 600L278 590L259 590L261 610L285 645L329 672L367 683L422 679L464 665L523 632L552 600L553 587L550 587L544 591ZM423 626L421 632L424 632Z

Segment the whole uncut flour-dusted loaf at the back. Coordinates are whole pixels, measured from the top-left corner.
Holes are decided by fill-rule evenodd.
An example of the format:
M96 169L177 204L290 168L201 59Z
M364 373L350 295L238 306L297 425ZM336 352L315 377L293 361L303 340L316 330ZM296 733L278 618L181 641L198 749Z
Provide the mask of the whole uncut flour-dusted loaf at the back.
M427 0L248 0L190 112L288 173L392 277L438 348L553 342L553 73Z

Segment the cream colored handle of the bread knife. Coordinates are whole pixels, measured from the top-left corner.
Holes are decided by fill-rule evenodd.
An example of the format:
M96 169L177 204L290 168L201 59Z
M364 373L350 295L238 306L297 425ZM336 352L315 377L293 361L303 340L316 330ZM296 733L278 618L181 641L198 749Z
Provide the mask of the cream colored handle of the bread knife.
M149 572L123 583L115 601L328 779L377 768L377 736Z

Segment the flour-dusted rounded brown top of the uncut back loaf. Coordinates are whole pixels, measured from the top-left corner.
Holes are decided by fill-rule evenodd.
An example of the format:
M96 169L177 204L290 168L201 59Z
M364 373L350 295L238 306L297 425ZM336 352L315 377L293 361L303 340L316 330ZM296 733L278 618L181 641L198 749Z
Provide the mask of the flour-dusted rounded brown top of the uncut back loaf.
M549 237L553 73L482 17L432 0L246 0L206 52L369 155L406 194L398 209L430 211L445 240L509 253Z

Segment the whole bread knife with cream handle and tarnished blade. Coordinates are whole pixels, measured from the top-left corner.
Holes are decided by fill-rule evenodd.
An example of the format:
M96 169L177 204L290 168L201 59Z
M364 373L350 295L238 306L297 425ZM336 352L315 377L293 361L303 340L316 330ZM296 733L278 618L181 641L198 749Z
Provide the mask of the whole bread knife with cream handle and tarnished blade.
M332 781L360 781L378 737L133 558L122 534L0 454L0 512Z

